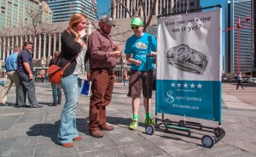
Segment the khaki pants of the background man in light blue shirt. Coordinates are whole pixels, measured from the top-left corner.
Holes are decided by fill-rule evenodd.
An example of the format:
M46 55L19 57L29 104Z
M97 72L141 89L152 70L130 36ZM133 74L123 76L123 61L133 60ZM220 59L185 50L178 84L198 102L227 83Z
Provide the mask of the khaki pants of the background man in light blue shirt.
M19 81L17 71L15 71L15 70L7 72L7 81L6 81L6 83L3 87L3 91L1 92L1 102L2 103L4 103L4 104L6 103L7 94L9 93L9 89L10 89L10 87L12 87L14 82L15 82L15 88L16 88L16 93L15 93L16 102L15 102L15 104L17 104L17 102L18 102L18 89L19 89L20 81Z

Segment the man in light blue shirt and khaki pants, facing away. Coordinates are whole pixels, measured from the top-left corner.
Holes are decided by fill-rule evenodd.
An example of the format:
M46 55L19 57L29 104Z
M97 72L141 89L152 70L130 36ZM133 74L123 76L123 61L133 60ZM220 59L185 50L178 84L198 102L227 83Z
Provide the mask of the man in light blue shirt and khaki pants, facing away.
M17 57L18 53L20 53L20 47L14 48L14 53L10 54L5 61L5 70L7 72L7 81L3 87L3 91L1 92L1 104L3 105L9 105L6 104L7 101L7 94L9 93L10 87L13 86L15 82L15 92L16 92L16 100L15 105L18 105L18 89L20 85L19 76L17 74Z

